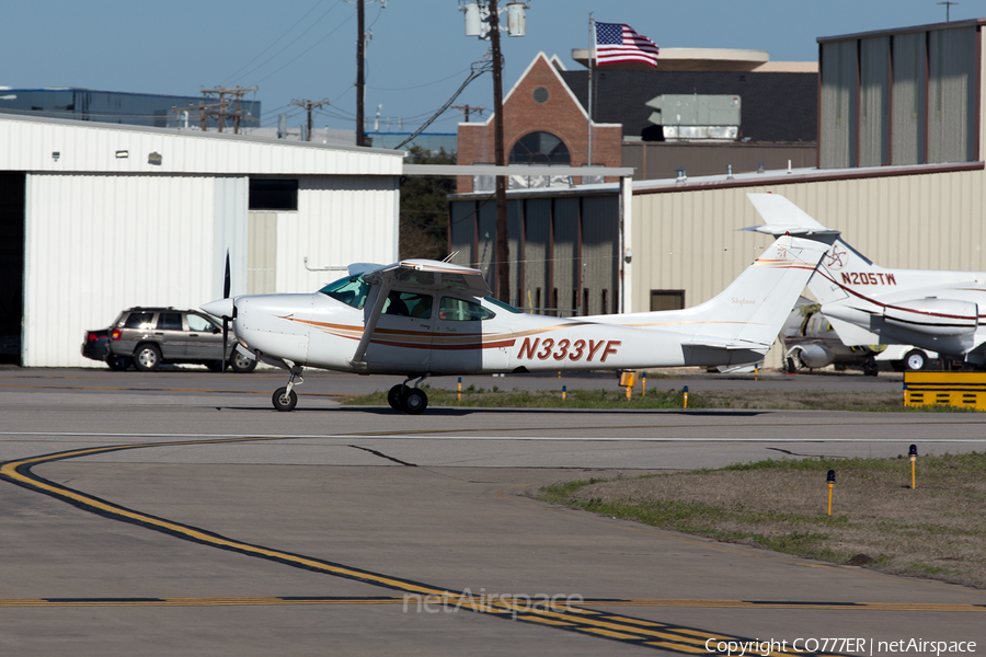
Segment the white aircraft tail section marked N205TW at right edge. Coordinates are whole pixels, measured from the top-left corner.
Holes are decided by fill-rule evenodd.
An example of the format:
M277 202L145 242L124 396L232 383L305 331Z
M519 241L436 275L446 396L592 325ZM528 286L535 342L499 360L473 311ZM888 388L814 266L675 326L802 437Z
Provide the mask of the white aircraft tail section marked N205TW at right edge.
M986 365L986 273L886 269L777 194L747 195L767 234L818 240L828 252L809 281L847 346L915 345Z

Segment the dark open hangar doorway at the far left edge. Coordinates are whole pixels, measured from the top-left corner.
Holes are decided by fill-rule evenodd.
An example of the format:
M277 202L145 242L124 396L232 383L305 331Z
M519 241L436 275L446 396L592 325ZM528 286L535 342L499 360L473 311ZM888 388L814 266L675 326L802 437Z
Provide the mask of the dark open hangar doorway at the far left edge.
M0 173L0 362L21 364L24 316L23 173Z

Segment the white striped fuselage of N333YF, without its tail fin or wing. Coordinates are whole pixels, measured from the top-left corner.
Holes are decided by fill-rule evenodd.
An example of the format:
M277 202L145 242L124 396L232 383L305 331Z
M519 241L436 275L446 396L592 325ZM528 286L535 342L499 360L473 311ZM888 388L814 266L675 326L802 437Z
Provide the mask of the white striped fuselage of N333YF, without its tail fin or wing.
M250 351L276 355L305 367L372 374L616 370L723 361L722 353L704 354L683 346L688 336L677 335L674 326L628 326L615 323L617 315L565 319L519 314L475 298L471 302L480 303L493 316L461 321L436 312L428 316L382 314L367 347L365 366L352 360L364 333L365 309L321 292L240 297L233 330ZM749 362L761 357L761 351L734 349L730 359Z

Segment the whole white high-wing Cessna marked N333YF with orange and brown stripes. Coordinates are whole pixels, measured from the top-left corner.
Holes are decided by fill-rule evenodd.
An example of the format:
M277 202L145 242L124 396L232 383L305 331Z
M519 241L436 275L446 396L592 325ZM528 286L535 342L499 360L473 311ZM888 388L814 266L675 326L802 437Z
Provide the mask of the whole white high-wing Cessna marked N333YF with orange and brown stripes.
M426 260L351 265L318 292L227 293L202 309L232 321L242 353L290 371L274 392L278 411L298 403L302 367L317 367L405 376L388 401L416 415L428 403L419 384L432 376L756 362L825 250L782 237L718 297L676 311L525 314L491 297L479 269Z

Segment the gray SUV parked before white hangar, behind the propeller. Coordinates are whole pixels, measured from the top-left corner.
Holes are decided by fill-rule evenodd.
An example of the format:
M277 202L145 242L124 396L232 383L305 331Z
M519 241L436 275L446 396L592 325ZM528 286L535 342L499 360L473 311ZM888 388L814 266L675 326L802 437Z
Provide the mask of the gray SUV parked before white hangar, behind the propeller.
M128 359L149 372L164 362L194 362L222 370L222 327L205 313L180 308L130 308L110 325L111 358ZM236 372L252 372L256 360L236 349L230 332L227 364Z

